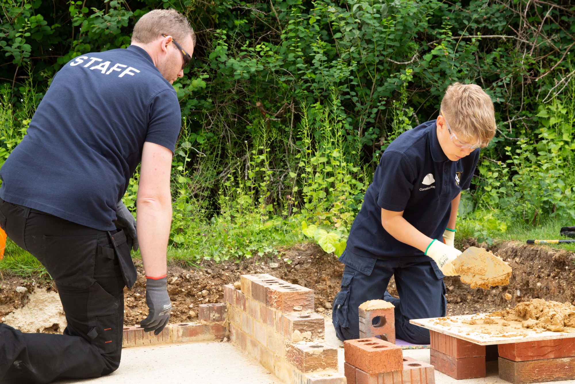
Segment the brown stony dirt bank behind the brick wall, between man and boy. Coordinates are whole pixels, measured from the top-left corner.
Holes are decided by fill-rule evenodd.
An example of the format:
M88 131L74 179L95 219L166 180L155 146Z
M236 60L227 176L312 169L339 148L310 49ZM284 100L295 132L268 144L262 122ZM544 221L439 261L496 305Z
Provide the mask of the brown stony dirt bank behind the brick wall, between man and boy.
M331 309L333 296L339 291L343 264L325 253L319 245L297 244L273 259L253 257L215 263L204 261L201 268L168 267L168 293L173 309L170 322L186 322L196 318L198 305L224 301L223 286L240 280L240 275L269 273L293 284L315 291L315 305L319 311ZM148 314L145 304L144 269L137 265L138 278L133 290L125 289L125 325L135 325Z

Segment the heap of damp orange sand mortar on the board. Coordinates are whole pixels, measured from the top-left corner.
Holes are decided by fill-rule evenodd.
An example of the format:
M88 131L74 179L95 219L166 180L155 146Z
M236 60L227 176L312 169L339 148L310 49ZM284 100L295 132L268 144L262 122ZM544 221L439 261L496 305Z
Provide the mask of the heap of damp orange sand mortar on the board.
M490 314L505 321L519 321L523 328L540 328L562 332L564 327L575 328L575 306L571 303L532 299L519 303L513 309Z

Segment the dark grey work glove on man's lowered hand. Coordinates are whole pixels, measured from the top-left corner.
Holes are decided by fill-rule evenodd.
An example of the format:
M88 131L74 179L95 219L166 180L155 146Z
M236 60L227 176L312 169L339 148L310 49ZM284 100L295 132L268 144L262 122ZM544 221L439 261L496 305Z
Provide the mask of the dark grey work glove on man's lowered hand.
M150 314L140 321L140 325L144 328L144 332L152 332L153 330L154 334L159 334L168 324L172 310L166 277L158 280L146 278L145 301L150 309Z

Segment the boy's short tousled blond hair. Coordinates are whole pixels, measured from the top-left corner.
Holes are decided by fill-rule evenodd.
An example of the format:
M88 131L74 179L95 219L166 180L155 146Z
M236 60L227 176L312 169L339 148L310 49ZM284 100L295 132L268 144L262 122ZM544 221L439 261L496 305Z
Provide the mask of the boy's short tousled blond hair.
M488 94L476 84L453 83L441 101L442 115L456 133L486 147L495 135L495 112Z

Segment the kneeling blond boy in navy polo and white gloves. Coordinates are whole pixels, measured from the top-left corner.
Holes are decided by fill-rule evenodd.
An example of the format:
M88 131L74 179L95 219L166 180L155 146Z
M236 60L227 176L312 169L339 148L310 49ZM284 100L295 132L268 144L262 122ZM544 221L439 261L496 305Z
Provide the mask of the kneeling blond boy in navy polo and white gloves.
M451 262L461 254L453 246L459 198L495 129L491 98L478 85L454 83L436 120L385 150L339 258L345 269L332 318L340 340L359 338L361 303L384 299L395 306L398 339L430 343L428 330L409 320L446 314L443 277L457 275ZM392 275L399 299L386 291Z

